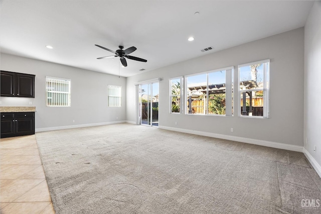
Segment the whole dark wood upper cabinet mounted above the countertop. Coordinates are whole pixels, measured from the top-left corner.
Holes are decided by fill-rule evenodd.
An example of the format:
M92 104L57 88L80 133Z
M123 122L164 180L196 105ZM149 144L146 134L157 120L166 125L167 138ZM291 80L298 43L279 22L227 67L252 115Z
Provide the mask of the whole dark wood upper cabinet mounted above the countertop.
M1 71L1 96L35 97L35 75Z

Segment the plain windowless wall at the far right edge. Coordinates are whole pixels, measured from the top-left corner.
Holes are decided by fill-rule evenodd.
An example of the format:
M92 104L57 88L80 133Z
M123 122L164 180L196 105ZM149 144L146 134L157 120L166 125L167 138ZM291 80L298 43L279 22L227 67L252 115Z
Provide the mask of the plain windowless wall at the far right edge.
M304 27L304 144L321 171L321 2L315 1ZM316 151L314 152L314 145ZM321 176L321 174L320 174Z

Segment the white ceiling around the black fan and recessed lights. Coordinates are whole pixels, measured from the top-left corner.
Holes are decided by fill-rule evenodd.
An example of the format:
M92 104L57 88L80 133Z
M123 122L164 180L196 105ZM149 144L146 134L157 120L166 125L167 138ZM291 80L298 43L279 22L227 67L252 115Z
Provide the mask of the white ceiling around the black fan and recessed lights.
M128 77L303 27L313 1L1 0L1 52ZM198 16L194 15L199 12ZM195 37L189 42L190 36ZM47 49L51 45L54 49ZM214 50L201 52L212 46Z

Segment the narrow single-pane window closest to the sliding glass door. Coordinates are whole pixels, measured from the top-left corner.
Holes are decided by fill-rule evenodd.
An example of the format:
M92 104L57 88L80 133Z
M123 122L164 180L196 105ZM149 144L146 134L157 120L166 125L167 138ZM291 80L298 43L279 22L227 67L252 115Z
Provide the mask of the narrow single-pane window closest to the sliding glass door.
M171 112L181 113L181 94L182 94L182 78L170 80L171 86Z

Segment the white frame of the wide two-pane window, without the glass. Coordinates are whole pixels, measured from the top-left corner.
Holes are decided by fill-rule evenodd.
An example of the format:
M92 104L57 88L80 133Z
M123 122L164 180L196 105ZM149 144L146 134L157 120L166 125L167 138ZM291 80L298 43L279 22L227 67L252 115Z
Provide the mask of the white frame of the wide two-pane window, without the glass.
M214 73L214 72L219 72L219 71L225 71L225 114L209 114L209 74L210 73ZM206 113L205 114L189 114L188 111L188 107L187 105L187 91L188 91L188 85L187 85L187 80L189 77L192 76L197 76L197 75L202 75L202 74L206 74ZM233 106L234 106L234 99L233 99L233 76L234 76L234 66L229 66L229 67L225 67L225 68L220 68L220 69L214 69L214 70L210 70L210 71L206 71L206 72L200 72L200 73L195 73L195 74L190 74L190 75L186 75L184 77L184 83L185 83L185 96L184 96L184 107L186 109L184 109L184 112L186 115L208 115L208 116L220 116L220 117L232 117L234 116L233 114Z

